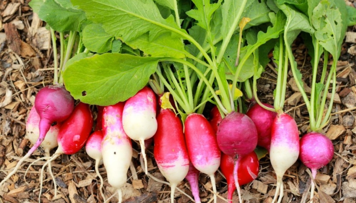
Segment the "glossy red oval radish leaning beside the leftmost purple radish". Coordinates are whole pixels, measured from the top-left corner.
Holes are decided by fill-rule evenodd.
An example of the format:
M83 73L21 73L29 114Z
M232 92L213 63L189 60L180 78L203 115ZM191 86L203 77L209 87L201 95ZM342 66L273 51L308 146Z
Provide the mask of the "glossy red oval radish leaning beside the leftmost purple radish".
M40 196L42 192L43 170L51 161L61 154L71 155L77 153L87 141L91 128L93 127L93 116L88 104L80 102L75 106L72 114L65 120L58 132L58 148L53 156L42 166L40 176ZM54 181L54 187L56 183ZM40 202L40 197L38 197Z

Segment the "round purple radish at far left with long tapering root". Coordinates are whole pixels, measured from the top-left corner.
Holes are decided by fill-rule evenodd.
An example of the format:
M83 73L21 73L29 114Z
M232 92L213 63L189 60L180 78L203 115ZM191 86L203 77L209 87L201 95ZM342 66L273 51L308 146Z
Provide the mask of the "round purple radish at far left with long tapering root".
M35 99L35 108L40 116L40 135L26 155L17 162L14 170L0 182L0 186L14 175L19 170L22 162L30 157L41 145L51 125L53 123L60 123L69 117L74 108L74 99L63 85L49 85L38 91Z

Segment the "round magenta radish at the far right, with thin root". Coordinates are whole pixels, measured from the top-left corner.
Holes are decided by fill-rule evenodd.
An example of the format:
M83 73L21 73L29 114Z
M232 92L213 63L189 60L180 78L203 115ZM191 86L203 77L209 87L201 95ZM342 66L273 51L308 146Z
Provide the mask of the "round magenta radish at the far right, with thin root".
M319 132L309 132L300 139L299 158L305 166L312 170L310 203L313 203L314 179L316 171L327 165L334 155L334 145L331 140Z

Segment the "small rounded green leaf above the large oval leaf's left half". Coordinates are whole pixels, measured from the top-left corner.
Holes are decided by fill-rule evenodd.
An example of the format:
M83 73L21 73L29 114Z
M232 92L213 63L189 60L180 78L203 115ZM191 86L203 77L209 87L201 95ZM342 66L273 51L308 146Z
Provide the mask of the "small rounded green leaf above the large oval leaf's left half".
M84 46L97 53L105 53L111 50L114 36L105 32L99 24L89 24L83 29L83 44Z

